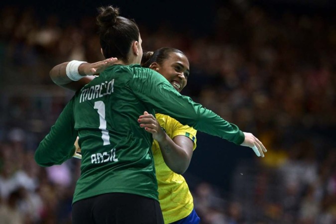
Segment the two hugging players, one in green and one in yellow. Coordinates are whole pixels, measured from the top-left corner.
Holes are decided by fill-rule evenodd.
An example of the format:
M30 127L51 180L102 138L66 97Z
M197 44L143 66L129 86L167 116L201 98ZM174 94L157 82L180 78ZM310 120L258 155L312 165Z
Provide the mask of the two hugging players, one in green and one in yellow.
M257 156L266 149L253 134L180 94L190 73L182 51L165 47L143 54L134 21L112 6L99 11L106 60L74 60L50 71L57 85L76 93L35 160L52 166L82 158L74 224L198 224L181 176L196 148L196 130L248 146Z

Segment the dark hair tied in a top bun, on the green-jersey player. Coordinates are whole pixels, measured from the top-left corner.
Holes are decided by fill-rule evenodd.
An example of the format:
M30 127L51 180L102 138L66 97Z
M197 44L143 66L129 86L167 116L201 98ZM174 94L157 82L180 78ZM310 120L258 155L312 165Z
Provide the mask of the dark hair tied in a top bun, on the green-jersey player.
M116 57L128 62L128 52L133 41L139 41L137 24L119 16L119 8L111 5L98 8L97 24L105 58Z

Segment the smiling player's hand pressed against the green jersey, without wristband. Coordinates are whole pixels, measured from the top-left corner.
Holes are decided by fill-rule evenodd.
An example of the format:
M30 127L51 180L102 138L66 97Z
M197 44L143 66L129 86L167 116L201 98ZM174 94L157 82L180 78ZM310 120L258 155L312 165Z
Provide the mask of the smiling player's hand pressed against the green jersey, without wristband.
M139 116L138 122L140 123L140 127L143 127L146 131L152 133L154 140L160 142L166 137L166 133L153 114L145 111L143 115Z

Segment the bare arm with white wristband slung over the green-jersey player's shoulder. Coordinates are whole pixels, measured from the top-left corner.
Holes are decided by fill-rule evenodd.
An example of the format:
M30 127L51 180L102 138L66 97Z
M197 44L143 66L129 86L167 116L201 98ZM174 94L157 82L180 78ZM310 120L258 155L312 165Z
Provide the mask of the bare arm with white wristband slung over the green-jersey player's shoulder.
M109 58L95 63L77 62L77 65L79 65L78 74L80 75L77 81L74 81L71 79L71 76L69 76L71 69L74 68L71 64L69 65L70 62L64 62L56 65L50 70L49 76L58 86L77 91L93 80L95 78L93 75L101 73L107 67L113 65L116 61L116 58Z

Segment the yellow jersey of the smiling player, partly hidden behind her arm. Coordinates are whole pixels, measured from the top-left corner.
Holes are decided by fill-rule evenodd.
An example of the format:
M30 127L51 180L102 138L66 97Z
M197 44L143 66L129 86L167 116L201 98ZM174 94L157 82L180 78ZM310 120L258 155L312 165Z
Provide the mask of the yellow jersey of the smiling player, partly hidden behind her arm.
M188 125L182 125L174 118L155 114L160 126L165 129L168 136L173 139L177 135L189 137L196 148L196 130ZM182 175L171 171L165 164L159 143L153 141L153 155L156 170L156 178L159 187L159 201L164 223L172 223L187 217L194 208L193 197L189 191L187 182Z

